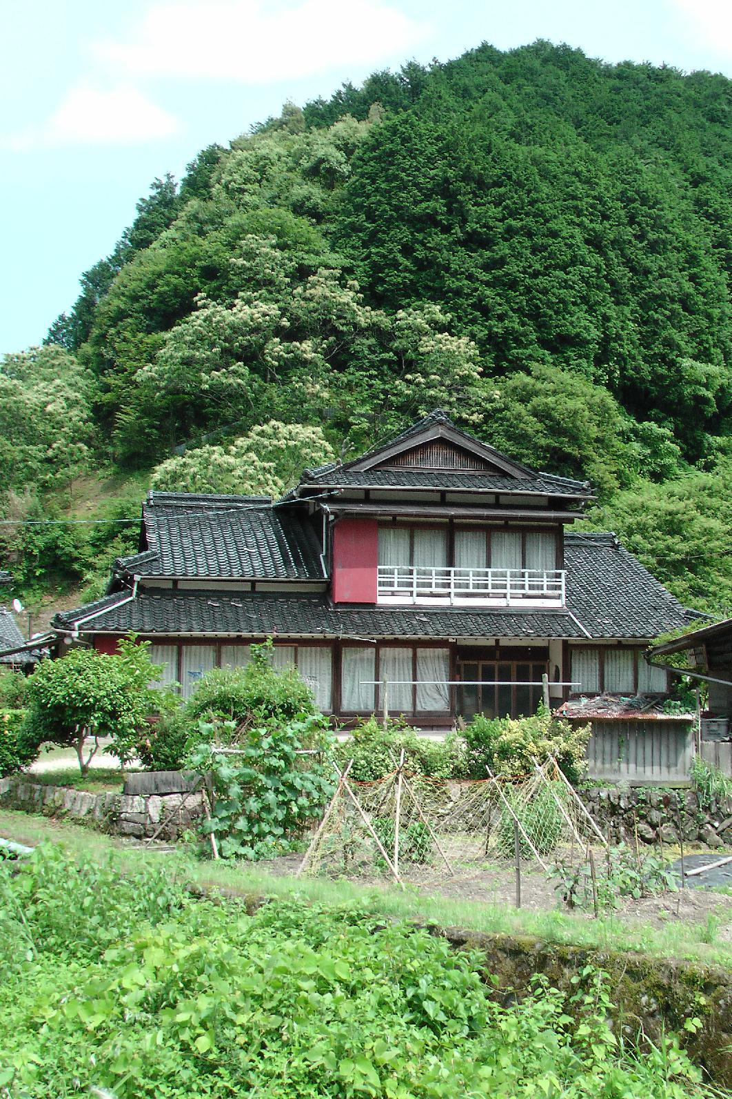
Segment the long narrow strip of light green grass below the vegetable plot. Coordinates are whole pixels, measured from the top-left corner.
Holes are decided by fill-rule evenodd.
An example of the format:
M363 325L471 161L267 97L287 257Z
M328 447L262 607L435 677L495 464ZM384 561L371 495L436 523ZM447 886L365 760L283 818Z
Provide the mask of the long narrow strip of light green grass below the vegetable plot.
M66 822L0 810L0 836L34 846L44 840L61 843L71 854L105 857L116 850L123 866L159 864L174 858L179 873L192 885L222 889L241 896L297 896L303 901L351 904L387 918L415 920L439 926L460 926L489 934L529 935L548 943L583 946L593 951L642 953L655 957L689 958L706 964L732 965L732 944L709 942L707 924L674 923L655 928L618 917L593 920L563 911L532 912L498 904L459 901L401 890L364 887L351 881L318 878L274 877L250 863L199 862L190 855L162 855L131 848L122 841Z

